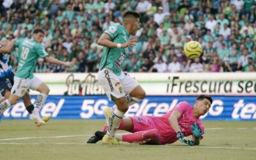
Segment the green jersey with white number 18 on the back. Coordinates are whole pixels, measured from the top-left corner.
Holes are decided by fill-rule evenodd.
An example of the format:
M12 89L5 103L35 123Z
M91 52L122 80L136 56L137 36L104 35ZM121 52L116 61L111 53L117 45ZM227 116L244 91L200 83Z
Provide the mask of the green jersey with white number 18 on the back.
M45 56L48 56L49 54L41 44L33 39L24 39L19 42L15 42L15 47L19 47L19 65L15 72L15 76L32 79L38 58L45 58Z

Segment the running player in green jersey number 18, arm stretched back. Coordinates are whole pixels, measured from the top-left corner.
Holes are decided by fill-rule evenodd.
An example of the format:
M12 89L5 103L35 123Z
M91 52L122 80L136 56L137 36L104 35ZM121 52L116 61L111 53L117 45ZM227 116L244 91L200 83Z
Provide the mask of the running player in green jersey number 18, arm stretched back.
M14 76L14 84L11 90L11 95L8 99L0 104L0 115L28 92L28 89L40 92L36 99L35 108L33 105L28 108L31 111L29 118L38 124L45 124L44 120L40 118L39 111L44 105L44 102L49 94L49 87L43 83L38 77L33 75L36 61L38 58L44 58L49 63L57 65L64 65L70 67L73 65L70 61L60 61L49 56L42 46L44 38L44 31L42 29L35 29L33 31L32 39L25 39L15 42L15 47L19 48L18 68Z

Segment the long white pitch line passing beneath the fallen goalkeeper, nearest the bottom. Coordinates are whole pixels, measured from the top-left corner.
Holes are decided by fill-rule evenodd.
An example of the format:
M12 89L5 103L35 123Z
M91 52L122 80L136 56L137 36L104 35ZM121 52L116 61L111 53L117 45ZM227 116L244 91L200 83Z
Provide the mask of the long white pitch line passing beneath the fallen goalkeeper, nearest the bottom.
M0 145L93 145L88 143L0 143ZM129 145L129 144L128 144ZM138 145L139 147L140 145ZM175 145L142 145L147 147L176 147L176 148L184 148L189 146L175 146ZM235 150L256 150L256 148L243 148L243 147L214 147L214 146L194 146L189 148L209 148L209 149L235 149Z

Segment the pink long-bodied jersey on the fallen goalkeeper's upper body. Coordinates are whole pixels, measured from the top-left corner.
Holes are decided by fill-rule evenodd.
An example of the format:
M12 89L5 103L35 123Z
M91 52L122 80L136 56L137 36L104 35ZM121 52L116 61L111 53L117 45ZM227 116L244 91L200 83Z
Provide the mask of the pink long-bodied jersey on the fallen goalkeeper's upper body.
M189 136L192 134L190 126L195 122L197 122L202 131L204 131L204 125L202 124L201 120L195 119L193 117L193 106L191 106L186 101L182 101L179 102L171 111L168 111L168 113L165 115L155 117L155 123L157 122L157 129L161 134L161 144L173 143L178 140L176 137L176 132L172 129L168 121L169 116L175 110L180 112L181 116L178 120L178 123L184 136Z

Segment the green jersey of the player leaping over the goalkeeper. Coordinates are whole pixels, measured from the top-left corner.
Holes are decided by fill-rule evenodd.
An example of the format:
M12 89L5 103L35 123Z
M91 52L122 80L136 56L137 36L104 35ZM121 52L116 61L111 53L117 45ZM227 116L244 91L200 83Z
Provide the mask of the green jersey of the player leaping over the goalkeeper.
M124 44L129 40L128 31L119 23L109 26L104 33L108 34L111 37L111 41L117 44ZM128 54L129 47L124 49L103 47L100 70L102 70L102 68L109 68L119 76L122 72L122 63Z

